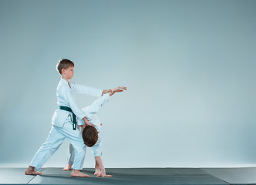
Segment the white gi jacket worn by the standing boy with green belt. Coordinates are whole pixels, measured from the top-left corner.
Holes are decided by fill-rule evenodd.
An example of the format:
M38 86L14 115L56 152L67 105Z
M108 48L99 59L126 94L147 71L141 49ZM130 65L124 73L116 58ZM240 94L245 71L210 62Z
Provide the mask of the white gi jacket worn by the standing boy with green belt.
M83 119L83 117L85 117L86 114L77 105L74 94L85 93L91 96L100 97L102 95L102 92L103 89L95 89L88 86L82 86L77 84L76 82L68 83L66 79L61 78L61 80L59 81L59 85L57 86L57 104L59 106L70 107L72 109L72 112L77 116L78 119ZM72 117L72 113L70 113L69 111L56 109L52 116L52 124L55 126L62 127L69 115L70 117Z

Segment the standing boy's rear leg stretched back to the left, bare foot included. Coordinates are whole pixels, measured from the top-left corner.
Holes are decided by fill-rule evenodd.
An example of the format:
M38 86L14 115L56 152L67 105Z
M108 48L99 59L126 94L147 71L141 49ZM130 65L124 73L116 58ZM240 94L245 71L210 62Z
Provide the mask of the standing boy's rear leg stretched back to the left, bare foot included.
M49 157L52 156L52 154L55 153L55 151L62 144L63 140L65 140L65 136L62 136L62 134L56 130L56 126L52 126L48 138L45 140L45 143L42 144L37 153L35 153L35 156L33 157L29 168L25 171L25 174L42 174L36 173L35 170L38 170L43 164L46 163Z

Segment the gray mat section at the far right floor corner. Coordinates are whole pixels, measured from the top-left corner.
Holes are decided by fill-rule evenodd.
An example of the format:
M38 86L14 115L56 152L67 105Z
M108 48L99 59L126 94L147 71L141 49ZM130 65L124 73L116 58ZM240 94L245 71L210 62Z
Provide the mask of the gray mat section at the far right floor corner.
M203 168L214 177L231 184L256 184L256 168Z

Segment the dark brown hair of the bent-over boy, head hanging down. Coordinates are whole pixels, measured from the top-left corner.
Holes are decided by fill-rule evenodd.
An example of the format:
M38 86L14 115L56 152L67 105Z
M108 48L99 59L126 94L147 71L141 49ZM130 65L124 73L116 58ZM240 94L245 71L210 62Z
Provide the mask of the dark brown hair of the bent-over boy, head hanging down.
M97 143L98 131L94 126L86 126L82 133L83 142L86 146L92 147Z

